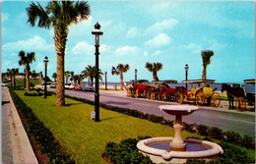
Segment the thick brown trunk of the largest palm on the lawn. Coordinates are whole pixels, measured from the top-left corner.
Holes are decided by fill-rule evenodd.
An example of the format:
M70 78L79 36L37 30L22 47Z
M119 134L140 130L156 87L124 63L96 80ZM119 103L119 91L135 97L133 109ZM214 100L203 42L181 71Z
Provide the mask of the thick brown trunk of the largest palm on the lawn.
M64 59L68 36L68 29L54 27L54 41L57 52L57 86L56 86L56 106L65 105L65 87L64 87Z

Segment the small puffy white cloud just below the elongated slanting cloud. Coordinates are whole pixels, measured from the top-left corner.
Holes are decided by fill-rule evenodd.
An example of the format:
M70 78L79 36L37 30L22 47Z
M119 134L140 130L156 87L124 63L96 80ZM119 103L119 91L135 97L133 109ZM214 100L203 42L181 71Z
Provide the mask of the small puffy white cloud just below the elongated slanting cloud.
M161 47L169 44L171 41L170 37L165 33L160 33L159 35L155 36L154 38L146 41L144 43L147 47Z

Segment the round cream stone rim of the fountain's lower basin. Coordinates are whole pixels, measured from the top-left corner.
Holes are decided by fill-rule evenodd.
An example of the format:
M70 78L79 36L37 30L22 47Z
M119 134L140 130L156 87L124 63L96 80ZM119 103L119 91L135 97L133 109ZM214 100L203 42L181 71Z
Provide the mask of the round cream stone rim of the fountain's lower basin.
M205 146L206 150L167 151L150 146L156 143L171 142L172 139L173 137L153 137L144 139L137 143L137 148L145 155L149 155L151 158L153 158L153 161L154 159L158 159L160 162L169 162L172 158L215 158L218 157L219 154L224 153L223 148L219 144L195 138L184 139L184 141L190 144L200 144L201 146ZM154 162L156 162L156 160Z

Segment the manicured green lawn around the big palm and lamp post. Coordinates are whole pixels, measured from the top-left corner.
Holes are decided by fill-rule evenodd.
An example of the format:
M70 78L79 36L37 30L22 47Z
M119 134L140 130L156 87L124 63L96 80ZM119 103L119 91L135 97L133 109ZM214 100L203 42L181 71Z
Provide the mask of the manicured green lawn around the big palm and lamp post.
M173 129L100 108L99 123L91 119L94 106L66 98L66 106L55 106L55 96L24 96L16 90L34 114L65 147L77 163L105 163L101 155L105 144L129 137L173 137ZM183 132L183 137L199 137Z

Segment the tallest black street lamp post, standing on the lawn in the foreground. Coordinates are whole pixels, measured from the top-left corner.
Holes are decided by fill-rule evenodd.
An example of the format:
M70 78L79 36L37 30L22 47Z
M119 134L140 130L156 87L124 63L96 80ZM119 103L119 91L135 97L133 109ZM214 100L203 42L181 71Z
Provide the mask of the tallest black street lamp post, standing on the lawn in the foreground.
M96 35L96 93L95 93L95 122L99 122L99 94L98 94L98 47L99 47L99 35L102 35L103 32L100 31L100 25L96 23L95 30L92 31L92 34Z

